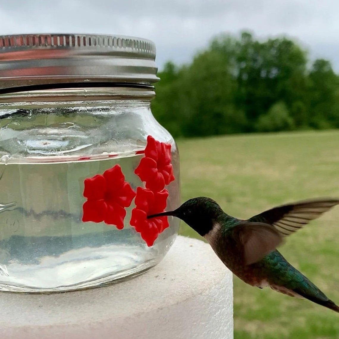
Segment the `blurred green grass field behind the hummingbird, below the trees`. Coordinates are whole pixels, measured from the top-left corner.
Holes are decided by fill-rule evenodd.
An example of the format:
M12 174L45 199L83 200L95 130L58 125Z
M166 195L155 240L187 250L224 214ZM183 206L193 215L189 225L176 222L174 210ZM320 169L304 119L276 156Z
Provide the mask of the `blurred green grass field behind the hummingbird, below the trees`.
M182 201L208 196L228 214L248 218L281 203L339 197L339 131L179 140L178 146ZM199 238L183 222L180 233ZM339 207L279 250L339 303ZM339 338L339 314L234 277L234 330L236 339Z

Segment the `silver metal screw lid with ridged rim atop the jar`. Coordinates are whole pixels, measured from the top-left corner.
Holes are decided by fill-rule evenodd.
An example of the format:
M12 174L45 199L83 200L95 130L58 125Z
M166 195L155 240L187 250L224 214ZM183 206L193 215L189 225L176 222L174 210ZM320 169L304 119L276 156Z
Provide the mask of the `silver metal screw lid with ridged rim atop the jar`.
M150 84L156 76L152 41L93 34L0 36L0 89L46 84Z

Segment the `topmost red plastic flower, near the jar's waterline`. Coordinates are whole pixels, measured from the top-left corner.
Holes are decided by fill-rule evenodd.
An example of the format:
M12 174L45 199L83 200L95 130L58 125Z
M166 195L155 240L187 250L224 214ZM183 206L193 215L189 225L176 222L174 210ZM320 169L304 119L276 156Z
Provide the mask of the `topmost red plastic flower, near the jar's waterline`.
M146 182L146 188L159 192L175 179L171 160L171 145L156 141L149 135L145 157L140 160L134 173Z

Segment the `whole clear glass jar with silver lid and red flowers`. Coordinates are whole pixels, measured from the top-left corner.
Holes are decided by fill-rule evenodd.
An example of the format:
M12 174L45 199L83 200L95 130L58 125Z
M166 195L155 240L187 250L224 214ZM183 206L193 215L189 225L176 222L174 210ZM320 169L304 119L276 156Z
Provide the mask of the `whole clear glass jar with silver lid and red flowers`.
M178 220L158 220L150 235L154 224L133 217L139 190L153 204L168 191L167 210L180 204L178 149L151 112L154 60L139 38L0 39L1 291L100 286L145 272L171 247ZM148 189L154 168L137 168L154 145L173 173Z

